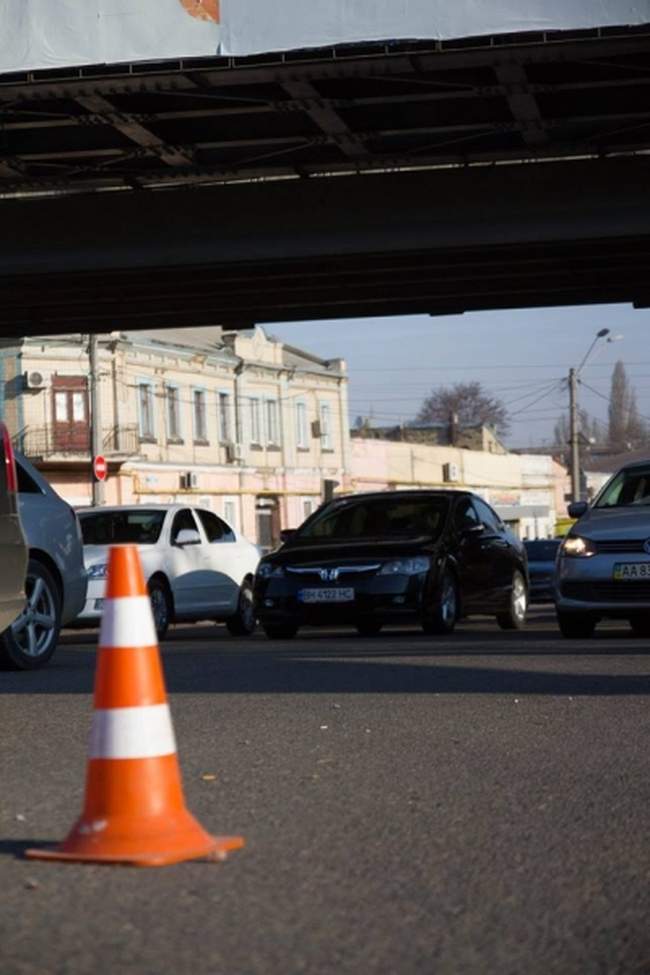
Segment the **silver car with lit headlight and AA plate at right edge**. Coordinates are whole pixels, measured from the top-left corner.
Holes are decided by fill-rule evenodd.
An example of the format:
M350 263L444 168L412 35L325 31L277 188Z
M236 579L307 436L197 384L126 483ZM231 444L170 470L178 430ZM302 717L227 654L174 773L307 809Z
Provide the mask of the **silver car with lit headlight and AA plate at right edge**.
M628 620L650 636L650 460L623 467L591 507L569 505L579 521L563 541L555 603L566 637L588 637L603 618Z

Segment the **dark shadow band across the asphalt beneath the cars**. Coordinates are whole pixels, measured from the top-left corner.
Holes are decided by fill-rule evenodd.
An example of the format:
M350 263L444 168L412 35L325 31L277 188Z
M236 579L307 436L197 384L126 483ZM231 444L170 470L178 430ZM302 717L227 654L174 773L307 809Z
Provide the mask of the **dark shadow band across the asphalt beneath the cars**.
M163 645L165 677L168 690L177 694L650 693L650 673L579 672L589 657L648 654L647 641L620 627L574 642L534 625L523 632L492 626L463 624L446 638L425 636L415 628L387 630L372 639L350 630L307 630L293 641L278 642L261 634L230 637L214 625L179 627ZM0 693L91 693L96 650L89 642L94 639L92 633L65 635L46 669L1 673ZM497 656L506 658L502 666L476 662ZM535 668L540 657L548 658L549 669Z

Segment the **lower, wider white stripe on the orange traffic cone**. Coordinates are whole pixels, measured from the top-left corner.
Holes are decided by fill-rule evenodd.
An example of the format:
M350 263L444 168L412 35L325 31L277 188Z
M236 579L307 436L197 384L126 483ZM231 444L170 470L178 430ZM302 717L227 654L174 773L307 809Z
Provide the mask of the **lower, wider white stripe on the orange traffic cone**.
M157 758L175 752L167 704L98 708L93 714L89 758Z

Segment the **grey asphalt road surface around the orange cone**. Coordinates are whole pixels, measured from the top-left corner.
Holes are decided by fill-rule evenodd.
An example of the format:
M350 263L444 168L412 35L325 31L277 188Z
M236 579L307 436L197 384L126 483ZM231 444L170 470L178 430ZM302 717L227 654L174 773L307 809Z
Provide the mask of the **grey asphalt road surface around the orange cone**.
M81 806L92 635L0 674L0 972L650 973L650 654L545 611L451 638L173 632L188 804L224 864L36 863ZM204 779L204 775L216 779Z

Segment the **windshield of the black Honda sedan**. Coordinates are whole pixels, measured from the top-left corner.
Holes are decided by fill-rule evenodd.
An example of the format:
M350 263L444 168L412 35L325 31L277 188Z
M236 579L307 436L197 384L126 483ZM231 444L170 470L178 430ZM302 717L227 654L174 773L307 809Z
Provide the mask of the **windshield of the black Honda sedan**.
M296 541L366 538L436 538L449 510L446 498L343 500L310 519Z

